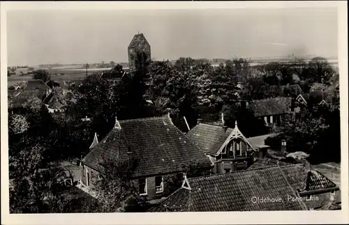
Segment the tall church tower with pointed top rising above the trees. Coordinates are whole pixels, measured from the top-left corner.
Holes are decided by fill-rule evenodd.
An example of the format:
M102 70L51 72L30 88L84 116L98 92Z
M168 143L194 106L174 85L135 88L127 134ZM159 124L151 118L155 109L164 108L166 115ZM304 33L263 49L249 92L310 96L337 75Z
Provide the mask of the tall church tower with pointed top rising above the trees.
M150 45L147 39L145 39L143 33L135 34L135 36L133 36L133 39L131 40L130 45L128 45L129 68L135 67L135 59L136 59L137 53L139 52L145 52L145 54L147 54L147 58L151 59Z

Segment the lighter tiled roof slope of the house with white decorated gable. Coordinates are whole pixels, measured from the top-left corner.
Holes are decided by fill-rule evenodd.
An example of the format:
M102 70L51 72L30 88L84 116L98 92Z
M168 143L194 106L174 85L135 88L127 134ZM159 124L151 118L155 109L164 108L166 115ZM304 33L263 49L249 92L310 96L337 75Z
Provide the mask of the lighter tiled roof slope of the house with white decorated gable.
M224 131L221 126L199 123L186 133L186 137L198 143L198 147L205 153L216 155L232 130L228 128Z

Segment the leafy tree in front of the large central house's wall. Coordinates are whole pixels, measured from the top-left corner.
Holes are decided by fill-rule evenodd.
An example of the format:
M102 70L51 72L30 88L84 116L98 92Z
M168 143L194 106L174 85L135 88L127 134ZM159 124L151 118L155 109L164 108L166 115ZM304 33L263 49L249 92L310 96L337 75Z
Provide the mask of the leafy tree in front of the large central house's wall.
M135 188L132 176L137 162L126 160L102 163L104 172L96 180L94 191L98 212L142 212L147 205Z

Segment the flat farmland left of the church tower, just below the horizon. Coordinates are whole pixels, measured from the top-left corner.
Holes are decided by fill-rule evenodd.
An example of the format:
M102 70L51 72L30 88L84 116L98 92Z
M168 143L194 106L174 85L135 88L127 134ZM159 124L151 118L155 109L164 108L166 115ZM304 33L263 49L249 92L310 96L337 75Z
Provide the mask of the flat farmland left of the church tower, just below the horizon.
M87 70L87 75L92 75L94 72L110 70L111 68L91 68ZM86 69L52 69L52 80L68 80L68 79L84 79L86 77ZM56 75L57 74L57 75ZM64 74L64 75L61 75ZM13 86L19 82L33 79L33 76L12 76L8 77L7 85Z

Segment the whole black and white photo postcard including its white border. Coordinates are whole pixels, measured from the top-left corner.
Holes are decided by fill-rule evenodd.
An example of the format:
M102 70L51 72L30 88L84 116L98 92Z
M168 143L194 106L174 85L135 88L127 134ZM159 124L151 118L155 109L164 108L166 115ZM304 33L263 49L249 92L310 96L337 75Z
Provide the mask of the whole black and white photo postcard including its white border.
M8 213L348 210L346 4L170 6L1 15Z

